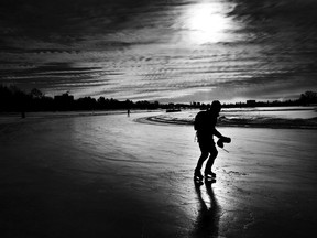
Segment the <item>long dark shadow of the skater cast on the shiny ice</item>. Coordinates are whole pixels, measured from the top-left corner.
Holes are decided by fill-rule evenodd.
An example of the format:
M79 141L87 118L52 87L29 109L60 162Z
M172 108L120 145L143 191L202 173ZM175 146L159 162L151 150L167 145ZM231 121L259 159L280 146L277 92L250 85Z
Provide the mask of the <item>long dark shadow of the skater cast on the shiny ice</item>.
M199 202L199 208L195 227L192 232L193 238L218 237L221 209L215 197L211 183L212 182L205 183L206 193L208 196L206 201L201 195L201 185L194 183Z

